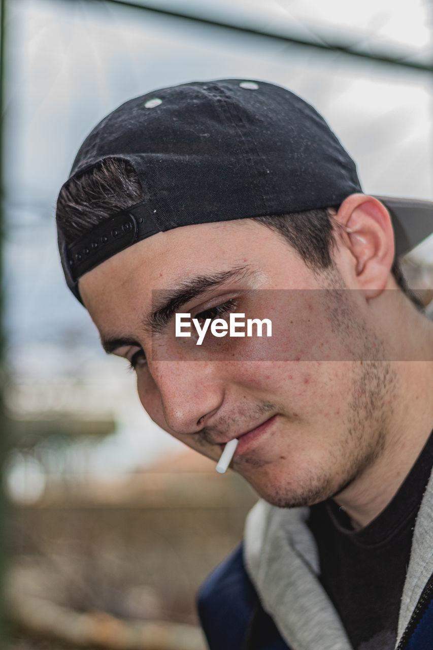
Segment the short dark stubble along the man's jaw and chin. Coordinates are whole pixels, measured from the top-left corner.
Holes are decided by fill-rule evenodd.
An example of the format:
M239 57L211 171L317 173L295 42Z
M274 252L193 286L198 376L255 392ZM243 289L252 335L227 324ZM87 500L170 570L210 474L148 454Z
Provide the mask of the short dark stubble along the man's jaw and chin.
M344 376L351 377L350 394L339 427L341 434L311 471L293 484L288 462L287 480L272 480L271 476L264 485L254 485L263 499L280 508L311 506L337 497L386 449L397 376L386 360L384 343L362 317L350 292L333 288L323 295L330 324L345 352L353 357L341 362L347 364Z

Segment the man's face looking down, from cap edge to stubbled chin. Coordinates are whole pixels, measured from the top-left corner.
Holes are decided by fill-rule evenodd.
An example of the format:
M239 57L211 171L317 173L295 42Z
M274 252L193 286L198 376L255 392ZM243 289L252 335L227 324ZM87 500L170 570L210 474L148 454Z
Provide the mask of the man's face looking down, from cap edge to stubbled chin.
M159 426L215 462L239 438L231 465L259 495L307 505L339 493L385 439L389 367L365 361L380 346L367 303L335 292L350 285L342 254L339 270L319 276L252 220L185 226L114 255L79 289L107 350L135 365L140 401ZM198 348L174 337L167 309L152 334L151 313L180 293L176 311L199 320L270 318L275 335L260 342L269 348L210 333Z

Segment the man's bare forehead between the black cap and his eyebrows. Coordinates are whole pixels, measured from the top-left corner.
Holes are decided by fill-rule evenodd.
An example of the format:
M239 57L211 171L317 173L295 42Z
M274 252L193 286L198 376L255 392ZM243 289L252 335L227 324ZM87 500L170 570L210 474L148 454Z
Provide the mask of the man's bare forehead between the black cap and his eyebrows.
M154 331L188 300L210 297L205 292L264 287L270 278L274 287L291 279L295 288L304 274L306 265L278 233L243 220L138 242L85 274L80 291L102 337L112 339Z

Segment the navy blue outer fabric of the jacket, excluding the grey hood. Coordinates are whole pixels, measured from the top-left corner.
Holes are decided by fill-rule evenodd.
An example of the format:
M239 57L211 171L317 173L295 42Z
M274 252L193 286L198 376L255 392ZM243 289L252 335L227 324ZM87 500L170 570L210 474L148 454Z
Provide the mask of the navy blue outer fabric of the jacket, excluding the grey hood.
M210 650L296 650L263 610L244 567L242 544L204 582L198 614ZM398 650L433 650L433 576Z

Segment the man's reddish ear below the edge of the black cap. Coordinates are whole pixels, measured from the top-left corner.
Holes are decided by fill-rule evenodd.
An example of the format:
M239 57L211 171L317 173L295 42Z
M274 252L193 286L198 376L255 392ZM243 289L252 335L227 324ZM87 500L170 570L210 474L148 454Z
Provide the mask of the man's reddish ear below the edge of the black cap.
M385 289L394 261L391 217L373 196L350 194L335 219L343 226L355 283L366 298L374 298Z

